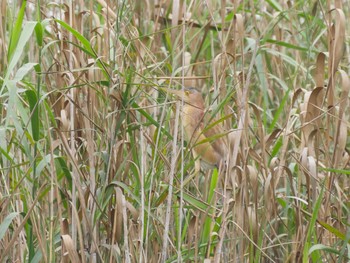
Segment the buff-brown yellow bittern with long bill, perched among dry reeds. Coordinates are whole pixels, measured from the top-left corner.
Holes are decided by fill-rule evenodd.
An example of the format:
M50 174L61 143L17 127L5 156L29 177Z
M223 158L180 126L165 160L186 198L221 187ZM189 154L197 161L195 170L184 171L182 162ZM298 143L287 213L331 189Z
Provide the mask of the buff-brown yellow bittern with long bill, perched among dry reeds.
M166 91L184 101L182 124L194 158L200 159L204 164L219 167L225 161L228 151L227 133L221 127L221 122L209 123L210 116L206 114L201 92L193 87ZM196 171L199 169L196 165Z

